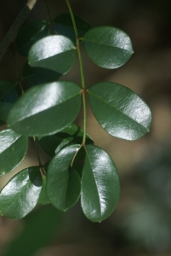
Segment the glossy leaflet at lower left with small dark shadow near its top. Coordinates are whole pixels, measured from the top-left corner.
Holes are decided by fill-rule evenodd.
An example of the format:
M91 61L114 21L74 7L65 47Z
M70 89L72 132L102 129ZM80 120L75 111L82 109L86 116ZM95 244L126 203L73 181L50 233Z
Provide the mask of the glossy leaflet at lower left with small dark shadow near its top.
M0 193L0 214L12 219L23 218L37 205L42 188L38 166L18 172Z

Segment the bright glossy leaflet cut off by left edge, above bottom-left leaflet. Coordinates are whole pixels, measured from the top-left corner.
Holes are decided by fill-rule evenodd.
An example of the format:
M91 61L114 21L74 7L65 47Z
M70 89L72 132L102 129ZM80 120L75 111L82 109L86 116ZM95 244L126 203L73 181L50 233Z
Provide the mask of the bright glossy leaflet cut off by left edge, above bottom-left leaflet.
M24 159L28 138L10 129L0 132L0 176L12 172Z

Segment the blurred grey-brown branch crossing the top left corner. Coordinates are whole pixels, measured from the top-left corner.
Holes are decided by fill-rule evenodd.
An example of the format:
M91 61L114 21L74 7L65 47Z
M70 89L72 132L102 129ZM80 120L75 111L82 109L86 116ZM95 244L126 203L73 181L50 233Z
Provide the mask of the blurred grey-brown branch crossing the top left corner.
M26 20L27 15L30 13L31 9L33 9L35 3L37 3L37 0L27 0L25 6L20 10L19 15L14 20L14 23L9 28L9 32L7 32L0 44L0 60L9 49L9 45L14 42L20 26L22 26L23 22Z

